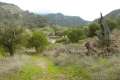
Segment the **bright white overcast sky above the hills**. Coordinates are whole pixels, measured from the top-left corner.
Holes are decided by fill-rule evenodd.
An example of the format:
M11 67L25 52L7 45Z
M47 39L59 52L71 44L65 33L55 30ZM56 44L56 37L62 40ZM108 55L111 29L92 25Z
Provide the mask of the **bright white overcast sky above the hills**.
M85 20L94 20L100 16L120 9L120 0L0 0L13 3L23 10L37 13L63 13L80 16Z

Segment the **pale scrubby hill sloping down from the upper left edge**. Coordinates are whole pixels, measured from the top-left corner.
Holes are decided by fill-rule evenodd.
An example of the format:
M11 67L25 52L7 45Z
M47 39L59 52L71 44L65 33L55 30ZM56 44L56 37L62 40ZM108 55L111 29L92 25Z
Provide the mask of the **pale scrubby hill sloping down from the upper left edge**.
M14 23L29 27L43 27L47 20L29 11L23 11L18 6L0 2L0 24Z

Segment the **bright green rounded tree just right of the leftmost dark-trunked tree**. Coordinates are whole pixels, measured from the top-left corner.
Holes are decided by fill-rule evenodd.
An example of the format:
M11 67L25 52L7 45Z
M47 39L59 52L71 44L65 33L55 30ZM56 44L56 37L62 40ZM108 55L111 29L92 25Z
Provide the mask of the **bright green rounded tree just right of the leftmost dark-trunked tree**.
M37 52L41 52L47 47L48 39L44 33L34 31L32 37L28 40L28 45L35 48Z

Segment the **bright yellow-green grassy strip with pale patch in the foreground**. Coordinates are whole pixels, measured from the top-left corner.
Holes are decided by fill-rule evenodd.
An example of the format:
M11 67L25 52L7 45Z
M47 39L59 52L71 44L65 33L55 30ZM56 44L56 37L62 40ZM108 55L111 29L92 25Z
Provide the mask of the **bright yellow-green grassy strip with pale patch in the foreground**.
M78 66L60 67L46 57L31 56L18 71L0 76L0 80L74 80L72 77L80 77L79 71L87 80L87 73Z

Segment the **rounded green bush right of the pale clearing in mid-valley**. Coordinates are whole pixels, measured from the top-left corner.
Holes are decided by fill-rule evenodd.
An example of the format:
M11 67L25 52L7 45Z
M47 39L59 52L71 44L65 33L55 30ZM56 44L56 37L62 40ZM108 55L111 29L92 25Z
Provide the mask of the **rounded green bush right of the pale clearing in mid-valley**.
M82 29L72 29L67 34L67 37L70 40L70 42L76 43L79 40L84 39L86 36L85 36L84 30L82 30Z

